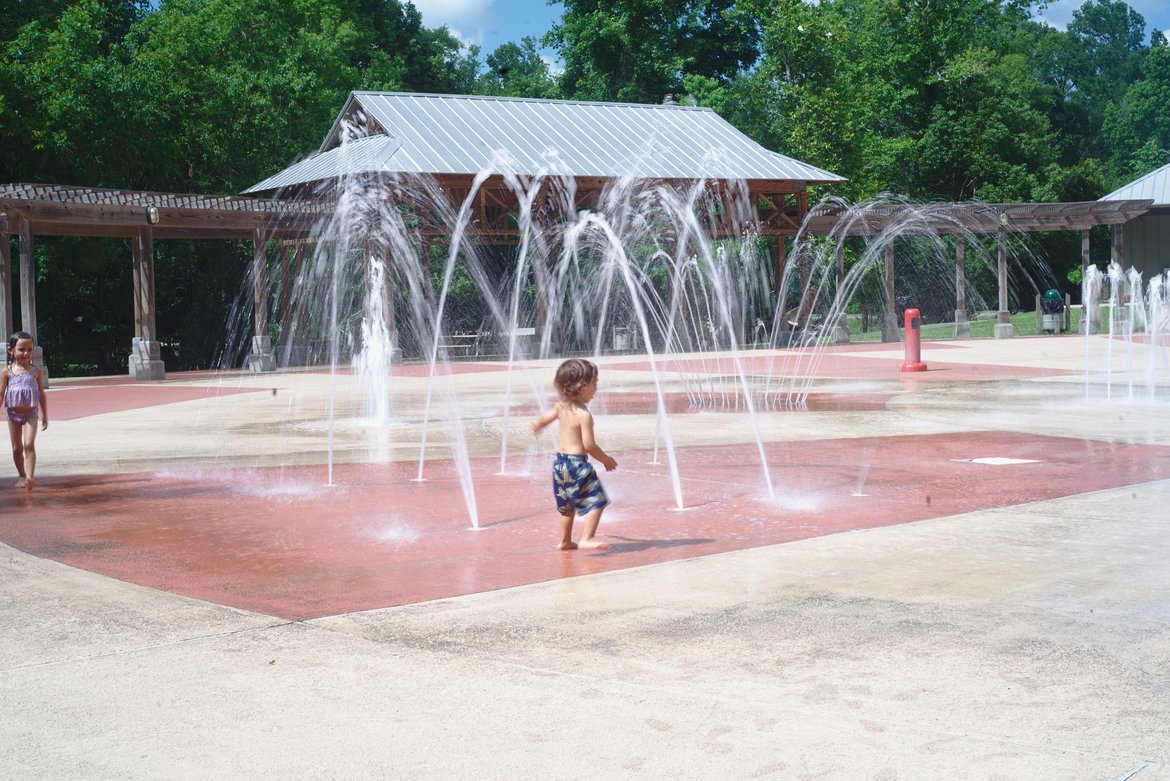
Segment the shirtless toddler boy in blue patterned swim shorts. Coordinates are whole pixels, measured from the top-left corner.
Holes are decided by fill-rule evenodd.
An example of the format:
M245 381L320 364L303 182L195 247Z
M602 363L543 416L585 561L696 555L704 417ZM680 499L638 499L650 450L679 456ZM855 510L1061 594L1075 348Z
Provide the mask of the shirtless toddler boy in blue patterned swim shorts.
M601 511L610 504L610 497L601 488L601 481L593 471L589 456L593 456L605 466L606 471L618 468L618 462L610 457L593 440L593 415L589 402L597 393L597 365L583 358L570 358L557 368L555 385L560 400L552 409L532 421L532 433L539 434L545 426L557 421L558 452L552 462L552 495L557 498L557 513L560 514L559 551L572 551L578 547L573 542L573 513L585 516L585 534L580 547L601 547L593 535L597 525L601 523Z

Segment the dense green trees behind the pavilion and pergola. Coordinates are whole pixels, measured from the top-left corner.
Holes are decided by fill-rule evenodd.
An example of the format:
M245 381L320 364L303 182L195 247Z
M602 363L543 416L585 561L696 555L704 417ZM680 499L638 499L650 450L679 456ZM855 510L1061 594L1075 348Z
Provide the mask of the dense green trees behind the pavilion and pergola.
M238 193L316 148L351 90L673 95L847 177L834 192L853 199L1088 200L1170 160L1170 46L1123 0L1087 0L1065 30L1032 0L551 5L542 40L483 54L405 0L8 4L0 179ZM250 250L158 255L159 327L186 351L168 365L206 366ZM124 367L132 313L106 289L128 257L39 242L49 354Z

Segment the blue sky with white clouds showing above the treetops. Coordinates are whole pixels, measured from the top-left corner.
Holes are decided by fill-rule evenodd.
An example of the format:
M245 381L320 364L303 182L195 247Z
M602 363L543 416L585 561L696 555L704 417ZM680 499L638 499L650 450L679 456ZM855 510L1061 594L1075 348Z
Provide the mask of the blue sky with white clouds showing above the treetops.
M480 60L495 51L501 43L518 43L525 35L539 40L560 18L564 6L549 5L545 0L412 0L422 13L427 27L446 26L464 43L480 47ZM1170 0L1128 0L1129 6L1145 18L1145 32L1151 28L1170 32ZM1053 0L1044 12L1035 13L1042 21L1064 29L1073 12L1085 0ZM1148 40L1145 41L1149 42ZM551 58L555 53L544 50Z

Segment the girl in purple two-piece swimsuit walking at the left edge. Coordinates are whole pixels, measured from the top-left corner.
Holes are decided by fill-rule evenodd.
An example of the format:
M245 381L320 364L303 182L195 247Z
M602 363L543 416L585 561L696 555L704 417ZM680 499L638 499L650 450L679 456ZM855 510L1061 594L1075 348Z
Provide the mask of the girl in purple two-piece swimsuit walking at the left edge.
M8 364L0 371L0 398L8 413L8 438L16 464L16 488L29 491L36 485L36 419L49 427L41 369L33 366L33 337L18 331L8 337Z

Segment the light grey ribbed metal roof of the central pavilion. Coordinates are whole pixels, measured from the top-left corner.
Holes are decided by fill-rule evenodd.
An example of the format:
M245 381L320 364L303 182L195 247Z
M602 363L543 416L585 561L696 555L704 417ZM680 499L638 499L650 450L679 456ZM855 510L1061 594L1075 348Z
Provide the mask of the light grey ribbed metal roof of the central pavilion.
M364 138L342 144L360 127ZM771 152L710 109L528 98L352 92L317 154L246 193L345 173L729 179L835 184Z

